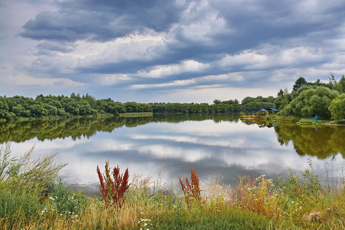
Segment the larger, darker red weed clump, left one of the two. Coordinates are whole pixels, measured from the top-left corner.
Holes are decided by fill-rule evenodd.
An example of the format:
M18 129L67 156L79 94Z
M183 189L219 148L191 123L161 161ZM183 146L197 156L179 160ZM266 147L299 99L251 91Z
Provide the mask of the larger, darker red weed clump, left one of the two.
M106 161L105 165L105 175L102 174L97 165L97 173L103 200L106 204L106 207L109 205L117 205L119 208L122 207L122 204L125 202L126 196L125 192L131 184L128 184L128 168L125 171L125 174L120 175L120 168L117 165L117 168L114 168L112 171L112 176L114 180L110 177L109 162Z

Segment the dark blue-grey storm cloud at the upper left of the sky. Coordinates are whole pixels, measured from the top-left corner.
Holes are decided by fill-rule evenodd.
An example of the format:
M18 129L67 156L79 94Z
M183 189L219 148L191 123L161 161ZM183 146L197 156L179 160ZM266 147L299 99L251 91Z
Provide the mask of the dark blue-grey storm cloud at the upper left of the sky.
M56 4L59 11L37 14L19 35L35 40L105 42L145 28L165 31L180 13L173 1L73 0Z

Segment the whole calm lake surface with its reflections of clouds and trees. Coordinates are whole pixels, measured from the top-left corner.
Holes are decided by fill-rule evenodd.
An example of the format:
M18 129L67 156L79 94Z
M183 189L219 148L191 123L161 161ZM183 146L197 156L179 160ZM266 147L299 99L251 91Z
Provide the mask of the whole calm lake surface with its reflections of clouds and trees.
M194 168L201 181L221 175L235 185L236 174L313 171L326 179L344 166L345 127L251 122L240 114L154 114L150 117L95 117L0 122L0 142L12 136L13 156L36 143L32 158L59 152L56 162L68 184L98 192L97 165L119 165L134 174L178 184ZM333 170L333 171L331 171ZM332 176L332 175L331 175Z

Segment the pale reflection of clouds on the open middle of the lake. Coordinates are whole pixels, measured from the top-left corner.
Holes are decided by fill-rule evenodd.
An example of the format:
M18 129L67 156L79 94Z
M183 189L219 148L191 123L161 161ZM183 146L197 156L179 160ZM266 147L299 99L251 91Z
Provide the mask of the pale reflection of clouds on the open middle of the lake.
M201 180L207 180L216 172L227 178L225 182L230 182L236 174L274 177L276 172L287 172L287 167L303 170L308 168L307 158L315 161L313 167L317 173L323 173L325 168L323 161L316 157L297 155L293 145L281 146L274 129L212 120L148 123L111 133L98 132L90 139L43 142L32 139L12 143L12 149L23 153L34 142L33 158L59 151L56 161L69 162L61 170L61 176L67 183L83 186L89 191L98 189L96 167L99 164L103 170L107 160L111 166L118 164L123 172L129 167L131 175L137 173L157 178L158 171L164 169L166 183L177 183L177 176L190 175L190 167L196 169ZM336 156L335 161L339 162L338 158Z

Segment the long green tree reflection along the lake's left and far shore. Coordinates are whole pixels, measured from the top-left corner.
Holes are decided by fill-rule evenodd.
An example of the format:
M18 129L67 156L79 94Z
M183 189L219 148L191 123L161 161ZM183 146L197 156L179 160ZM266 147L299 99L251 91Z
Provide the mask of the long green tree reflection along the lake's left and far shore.
M12 136L12 141L22 142L37 137L38 140L65 139L73 140L81 137L89 138L99 131L112 132L123 126L136 127L150 122L178 123L187 120L203 121L238 121L239 114L155 114L150 117L91 117L70 119L46 119L28 121L0 122L0 142L7 141Z

